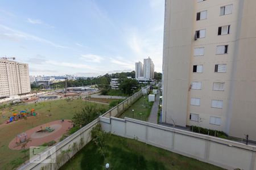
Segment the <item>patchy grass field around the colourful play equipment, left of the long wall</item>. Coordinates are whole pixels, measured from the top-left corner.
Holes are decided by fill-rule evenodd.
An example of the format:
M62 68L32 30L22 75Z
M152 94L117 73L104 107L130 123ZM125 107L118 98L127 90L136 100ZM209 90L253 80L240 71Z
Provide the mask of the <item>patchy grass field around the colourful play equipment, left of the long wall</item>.
M30 111L32 108L35 109L38 116L28 117L27 120L19 120L12 122L10 124L0 125L0 169L13 169L24 162L24 154L21 151L10 150L9 143L16 137L17 134L22 133L28 129L34 128L47 122L61 120L61 119L71 119L73 114L81 111L85 105L90 105L93 103L86 102L83 100L53 100L44 101L37 104L19 105L12 107L11 110L7 111L6 116L10 116L14 111L22 111L27 109ZM108 105L96 104L98 107L104 107L108 109ZM47 117L48 114L50 117ZM6 118L1 118L0 121L4 122Z

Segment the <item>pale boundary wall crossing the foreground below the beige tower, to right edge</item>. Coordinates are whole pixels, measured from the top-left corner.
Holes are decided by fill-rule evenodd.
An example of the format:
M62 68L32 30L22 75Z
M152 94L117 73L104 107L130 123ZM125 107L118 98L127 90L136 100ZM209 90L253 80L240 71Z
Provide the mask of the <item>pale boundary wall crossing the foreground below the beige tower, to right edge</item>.
M100 117L102 129L226 169L256 170L255 146L131 118Z

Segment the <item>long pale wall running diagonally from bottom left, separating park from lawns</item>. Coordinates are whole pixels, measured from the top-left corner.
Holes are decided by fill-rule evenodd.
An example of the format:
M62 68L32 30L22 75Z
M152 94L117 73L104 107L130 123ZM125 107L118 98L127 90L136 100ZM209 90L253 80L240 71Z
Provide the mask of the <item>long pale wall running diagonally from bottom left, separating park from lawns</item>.
M124 109L128 108L129 105L131 105L134 101L139 99L139 97L142 96L142 92L139 91L133 96L129 97L122 103L118 104L116 107L110 109L106 113L102 114L102 117L111 117L111 116L118 116L119 113L122 113ZM68 158L71 158L73 155L76 154L77 151L79 151L82 147L84 147L88 142L91 141L90 137L90 130L94 126L96 126L99 122L99 118L96 120L90 122L90 124L84 126L80 130L76 131L76 133L70 135L68 138L65 138L63 141L57 143L56 147L56 163L53 164L46 164L46 163L27 163L19 167L18 169L58 169L62 165L64 165ZM74 144L75 143L75 144ZM62 151L67 151L71 149L71 152L68 152L68 155L65 155L66 157L63 158L61 156ZM46 154L48 150L46 150ZM68 156L68 158L67 158ZM46 159L51 159L52 155L49 155ZM32 160L36 160L37 158L34 158Z

